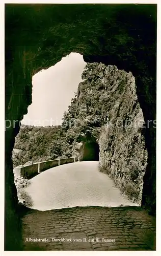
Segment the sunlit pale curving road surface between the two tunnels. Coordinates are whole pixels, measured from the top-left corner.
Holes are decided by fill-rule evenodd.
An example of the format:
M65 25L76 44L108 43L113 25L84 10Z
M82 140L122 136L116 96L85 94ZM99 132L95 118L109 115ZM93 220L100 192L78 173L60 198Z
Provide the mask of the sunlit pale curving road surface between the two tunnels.
M98 170L99 162L86 161L60 165L32 178L25 191L38 210L74 206L132 206L108 175Z

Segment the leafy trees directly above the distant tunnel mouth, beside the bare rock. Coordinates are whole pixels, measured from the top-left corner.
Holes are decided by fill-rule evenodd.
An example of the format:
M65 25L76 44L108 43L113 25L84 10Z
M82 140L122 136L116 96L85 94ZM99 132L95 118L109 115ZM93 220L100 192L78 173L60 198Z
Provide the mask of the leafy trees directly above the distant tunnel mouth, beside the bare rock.
M63 128L68 142L98 140L100 128L106 121L108 83L104 83L105 65L87 63L79 83L77 94L64 113ZM113 67L115 69L115 67Z

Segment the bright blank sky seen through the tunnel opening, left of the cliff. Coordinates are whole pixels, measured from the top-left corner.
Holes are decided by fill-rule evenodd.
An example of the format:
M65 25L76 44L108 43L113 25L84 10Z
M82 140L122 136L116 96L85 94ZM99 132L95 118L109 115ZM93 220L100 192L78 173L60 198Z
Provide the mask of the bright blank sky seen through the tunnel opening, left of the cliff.
M33 76L33 103L24 115L22 124L60 125L74 92L82 81L86 62L78 53L70 53L55 66Z

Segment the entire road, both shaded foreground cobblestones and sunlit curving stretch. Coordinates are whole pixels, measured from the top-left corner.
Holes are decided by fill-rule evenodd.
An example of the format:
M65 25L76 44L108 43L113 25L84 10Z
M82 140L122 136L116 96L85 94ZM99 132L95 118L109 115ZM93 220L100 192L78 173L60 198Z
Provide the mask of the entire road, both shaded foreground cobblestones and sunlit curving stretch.
M155 250L155 217L137 206L100 207L133 204L98 172L98 162L46 170L27 190L35 209L22 217L25 251Z

